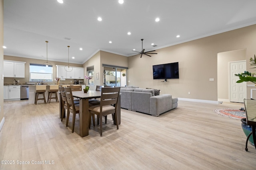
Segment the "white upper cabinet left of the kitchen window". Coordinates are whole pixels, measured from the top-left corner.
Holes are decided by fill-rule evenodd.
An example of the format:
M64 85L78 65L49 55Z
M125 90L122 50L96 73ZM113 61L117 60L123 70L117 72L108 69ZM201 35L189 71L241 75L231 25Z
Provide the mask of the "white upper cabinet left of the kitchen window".
M4 77L25 78L25 63L4 60Z

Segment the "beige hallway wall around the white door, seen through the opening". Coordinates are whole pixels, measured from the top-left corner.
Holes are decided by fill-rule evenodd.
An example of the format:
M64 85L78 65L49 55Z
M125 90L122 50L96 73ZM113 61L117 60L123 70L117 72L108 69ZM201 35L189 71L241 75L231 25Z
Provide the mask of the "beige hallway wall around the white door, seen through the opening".
M218 101L229 102L229 62L246 60L246 49L218 53Z

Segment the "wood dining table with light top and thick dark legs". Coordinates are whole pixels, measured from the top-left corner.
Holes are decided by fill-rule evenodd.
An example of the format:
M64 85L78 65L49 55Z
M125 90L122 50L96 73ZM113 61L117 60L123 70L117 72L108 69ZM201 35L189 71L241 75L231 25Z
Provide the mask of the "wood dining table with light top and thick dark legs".
M85 137L89 135L89 120L90 112L89 112L89 99L100 98L101 92L95 90L89 90L87 93L84 91L72 91L72 95L75 98L79 98L79 135L81 137ZM119 96L120 97L120 96ZM60 113L61 110L64 109L60 102ZM114 116L115 117L115 116ZM117 110L118 124L120 124L120 98L118 99L118 110ZM116 121L114 119L114 124Z

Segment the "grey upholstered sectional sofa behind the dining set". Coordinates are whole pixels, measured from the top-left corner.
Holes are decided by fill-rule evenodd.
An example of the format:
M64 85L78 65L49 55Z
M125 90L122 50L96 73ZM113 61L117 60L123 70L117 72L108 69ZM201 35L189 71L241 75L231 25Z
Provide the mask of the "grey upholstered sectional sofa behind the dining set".
M178 106L178 98L170 94L155 96L155 91L134 86L121 87L121 108L158 116Z

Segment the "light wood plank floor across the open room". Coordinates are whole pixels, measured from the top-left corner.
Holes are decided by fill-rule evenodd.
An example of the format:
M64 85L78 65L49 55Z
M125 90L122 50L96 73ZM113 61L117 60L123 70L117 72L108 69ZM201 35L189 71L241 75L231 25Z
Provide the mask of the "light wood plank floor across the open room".
M241 122L213 112L243 104L179 101L178 108L158 117L121 109L119 130L108 117L103 137L99 127L80 137L59 118L59 106L5 102L0 132L1 170L256 170L256 150L248 144ZM30 161L18 165L16 161ZM54 161L46 164L45 160ZM43 161L44 164L32 164ZM40 163L40 162L39 162Z

